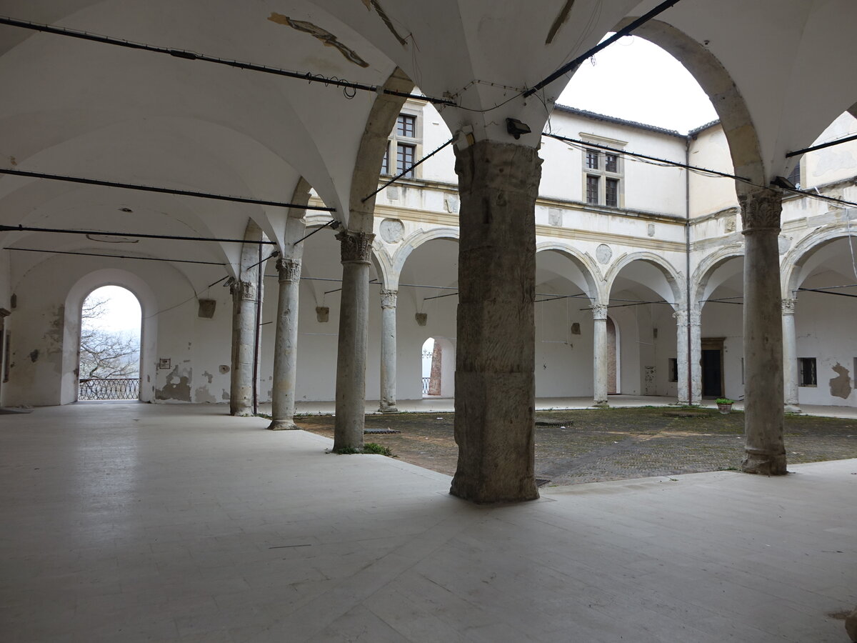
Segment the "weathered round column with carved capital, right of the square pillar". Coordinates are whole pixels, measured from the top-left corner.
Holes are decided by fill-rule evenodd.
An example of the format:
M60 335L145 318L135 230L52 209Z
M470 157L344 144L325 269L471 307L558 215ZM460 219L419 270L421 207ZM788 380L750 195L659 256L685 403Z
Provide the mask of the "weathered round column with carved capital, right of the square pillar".
M773 189L739 195L744 220L745 457L748 473L786 473L782 442L782 196Z

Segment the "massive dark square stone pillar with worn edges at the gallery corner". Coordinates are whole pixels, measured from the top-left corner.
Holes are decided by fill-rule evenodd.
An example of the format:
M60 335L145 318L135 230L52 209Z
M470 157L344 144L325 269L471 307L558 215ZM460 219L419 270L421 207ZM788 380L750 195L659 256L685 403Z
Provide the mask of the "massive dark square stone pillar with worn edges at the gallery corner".
M536 149L478 141L455 148L458 347L450 493L473 502L538 497L534 477Z

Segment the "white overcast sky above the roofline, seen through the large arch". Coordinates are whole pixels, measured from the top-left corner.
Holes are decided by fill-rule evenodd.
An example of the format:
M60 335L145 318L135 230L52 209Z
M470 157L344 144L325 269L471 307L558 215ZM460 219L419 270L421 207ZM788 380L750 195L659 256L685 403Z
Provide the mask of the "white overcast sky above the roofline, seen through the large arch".
M626 36L583 63L559 103L681 134L716 120L708 96L674 57Z

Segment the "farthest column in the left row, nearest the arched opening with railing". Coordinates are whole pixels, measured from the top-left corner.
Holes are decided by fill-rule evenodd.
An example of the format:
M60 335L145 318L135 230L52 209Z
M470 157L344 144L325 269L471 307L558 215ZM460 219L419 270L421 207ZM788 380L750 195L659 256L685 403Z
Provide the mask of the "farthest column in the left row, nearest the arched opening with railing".
M229 412L231 415L246 417L253 415L256 284L254 281L231 279L229 291L232 295L232 371Z

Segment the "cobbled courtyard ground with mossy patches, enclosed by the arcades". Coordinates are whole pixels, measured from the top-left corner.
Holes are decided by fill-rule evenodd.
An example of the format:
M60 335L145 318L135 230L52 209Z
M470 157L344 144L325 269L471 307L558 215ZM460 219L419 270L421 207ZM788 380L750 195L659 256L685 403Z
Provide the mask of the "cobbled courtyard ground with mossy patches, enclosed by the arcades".
M696 417L666 416L665 407L538 412L536 477L564 485L621 478L737 469L743 456L744 413L694 410ZM368 415L368 434L401 460L452 475L458 458L452 413ZM333 416L304 416L297 424L333 437ZM857 458L857 420L787 416L788 462Z

